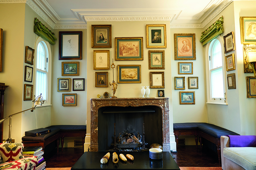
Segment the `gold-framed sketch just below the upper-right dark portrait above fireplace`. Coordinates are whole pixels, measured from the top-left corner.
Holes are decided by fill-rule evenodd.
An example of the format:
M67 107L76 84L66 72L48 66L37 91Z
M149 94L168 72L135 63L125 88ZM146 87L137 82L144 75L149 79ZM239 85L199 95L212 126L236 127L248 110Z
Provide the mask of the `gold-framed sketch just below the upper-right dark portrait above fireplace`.
M148 51L148 69L165 69L164 50Z

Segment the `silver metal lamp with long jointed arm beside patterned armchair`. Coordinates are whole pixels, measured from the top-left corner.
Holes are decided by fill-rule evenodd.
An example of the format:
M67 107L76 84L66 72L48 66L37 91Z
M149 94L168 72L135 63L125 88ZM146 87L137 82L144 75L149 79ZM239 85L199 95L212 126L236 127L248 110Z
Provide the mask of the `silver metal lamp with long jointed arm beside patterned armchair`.
M41 95L42 95L42 94L41 94ZM41 95L37 96L37 97L32 101L32 102L34 102L35 107L32 107L32 108L30 108L30 109L26 109L26 110L17 112L17 113L15 113L15 114L9 115L9 116L7 116L6 118L0 120L0 124L1 124L1 123L3 123L3 122L5 121L5 119L7 119L7 118L9 117L9 137L8 137L8 139L7 139L7 143L12 143L12 138L11 138L12 116L13 116L13 115L17 115L17 114L22 113L22 112L25 112L25 111L27 111L27 110L30 110L31 112L33 112L33 111L36 109L36 106L37 106L37 105L38 105L38 106L41 106L41 105L44 103L44 101L45 101L45 100L43 100L43 96L41 96Z

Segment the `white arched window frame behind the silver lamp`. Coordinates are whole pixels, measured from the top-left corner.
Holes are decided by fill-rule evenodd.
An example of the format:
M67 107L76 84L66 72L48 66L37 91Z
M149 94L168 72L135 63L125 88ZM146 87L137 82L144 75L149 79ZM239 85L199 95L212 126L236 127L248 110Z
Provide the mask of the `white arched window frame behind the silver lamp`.
M48 49L48 54L46 54L48 58L48 74L47 74L47 100L42 104L42 106L49 106L51 104L51 92L52 92L52 48L49 42L45 41L42 37L38 37L35 43L35 72L34 72L34 94L36 91L36 73L37 73L37 46L38 44L43 41ZM44 72L44 71L43 71ZM36 96L37 97L37 96ZM45 100L45 99L44 99Z

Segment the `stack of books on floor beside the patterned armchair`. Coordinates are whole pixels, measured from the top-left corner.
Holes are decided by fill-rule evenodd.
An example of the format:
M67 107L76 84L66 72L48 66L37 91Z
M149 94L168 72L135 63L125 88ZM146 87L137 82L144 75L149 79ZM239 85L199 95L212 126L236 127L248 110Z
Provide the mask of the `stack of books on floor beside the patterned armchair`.
M38 164L36 165L36 170L45 170L46 162L43 158L43 150L41 146L27 146L23 149L23 156L37 156Z

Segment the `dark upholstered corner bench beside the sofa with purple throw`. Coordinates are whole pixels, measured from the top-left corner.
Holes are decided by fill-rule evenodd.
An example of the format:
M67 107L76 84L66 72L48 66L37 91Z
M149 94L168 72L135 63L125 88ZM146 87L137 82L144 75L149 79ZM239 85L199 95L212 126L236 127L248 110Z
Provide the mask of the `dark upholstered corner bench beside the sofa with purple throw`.
M198 137L200 146L202 149L202 137L212 143L217 147L217 154L219 163L221 163L221 149L220 149L220 136L225 135L239 135L235 132L227 130L225 128L209 124L209 123L174 123L173 132L175 135L176 145L178 145L179 135L194 135L196 148L198 144Z

